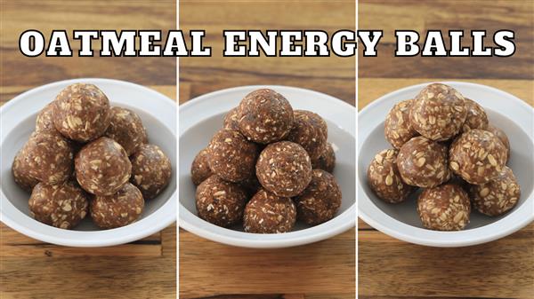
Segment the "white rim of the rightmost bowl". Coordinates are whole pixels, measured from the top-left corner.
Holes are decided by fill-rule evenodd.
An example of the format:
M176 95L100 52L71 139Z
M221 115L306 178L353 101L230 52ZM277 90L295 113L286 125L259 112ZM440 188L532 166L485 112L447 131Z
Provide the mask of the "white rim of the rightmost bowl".
M518 105L520 108L526 111L530 111L530 113L534 112L534 108L532 106L527 105L524 101L522 101L522 99L517 98L514 95L504 90L498 90L497 88L494 88L488 85L479 84L479 83L466 83L466 82L456 82L456 81L439 81L439 82L444 83L444 84L449 84L455 88L460 88L460 89L462 87L465 87L465 88L471 87L471 88L477 88L477 89L482 89L482 90L488 90L492 93L498 94L499 96L503 98L511 98L512 101L514 102L514 105ZM406 91L421 90L430 83L436 83L436 82L434 81L434 82L426 82L426 83L419 83L415 85L409 85L399 90L393 90L380 98L376 98L375 100L373 100L371 103L369 103L367 106L363 107L363 109L360 110L360 112L358 113L359 119L360 119L360 115L367 114L368 111L371 111L376 106L379 106L380 104L382 104L383 101L389 98L392 98L392 97L396 97L397 95L402 94ZM518 125L518 127L521 130L523 130L522 126ZM370 132L370 130L368 132ZM359 130L359 133L360 133L360 130ZM359 136L359 141L360 139L367 140L369 136L370 136L369 134L367 134L366 136ZM530 140L530 141L533 141L533 140ZM360 148L361 148L361 145L359 142L357 146L358 160L360 160L360 154L361 154ZM360 169L360 165L358 165L357 172L359 172L359 169ZM481 227L476 227L473 229L469 229L465 231L457 231L457 232L438 232L438 231L427 230L424 228L412 226L410 224L405 224L401 222L400 220L397 220L393 218L392 216L389 216L388 214L384 213L382 209L379 209L376 206L376 204L368 198L367 193L363 190L364 184L366 184L365 178L360 178L357 184L358 185L357 197L358 197L358 204L359 204L358 216L360 216L360 218L364 222L376 228L376 230L380 232L384 232L385 234L395 239L408 241L410 243L414 243L418 245L425 245L425 246L432 246L432 247L465 247L465 246L477 245L477 244L486 243L492 240L498 240L500 238L503 238L513 232L519 231L524 226L534 221L534 209L532 209L531 213L528 210L529 202L531 204L532 201L534 201L534 196L533 196L534 191L532 191L530 194L524 195L524 196L527 196L527 199L525 200L525 202L523 202L521 209L514 209L514 211L509 212L506 216L504 216L503 218L493 223L486 224ZM382 218L383 222L378 221L377 220L378 218ZM408 232L411 232L411 233L408 233ZM465 237L467 236L469 238L465 239Z

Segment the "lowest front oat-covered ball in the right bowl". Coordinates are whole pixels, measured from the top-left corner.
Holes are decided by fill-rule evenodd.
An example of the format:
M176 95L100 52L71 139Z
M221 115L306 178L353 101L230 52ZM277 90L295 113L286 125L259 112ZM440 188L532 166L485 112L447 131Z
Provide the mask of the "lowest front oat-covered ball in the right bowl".
M427 229L459 231L469 224L471 202L459 185L440 185L419 195L417 213Z

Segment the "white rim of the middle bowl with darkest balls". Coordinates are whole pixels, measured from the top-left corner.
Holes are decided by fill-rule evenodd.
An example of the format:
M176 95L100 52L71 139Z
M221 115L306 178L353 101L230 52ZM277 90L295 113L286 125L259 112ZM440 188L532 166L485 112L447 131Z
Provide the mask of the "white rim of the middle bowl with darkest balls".
M299 87L285 86L285 85L245 85L238 87L231 87L223 90L215 90L196 98L192 98L187 102L178 106L178 114L184 110L190 108L190 106L197 105L199 102L205 100L206 98L219 97L223 94L232 93L232 92L250 92L252 90L260 88L270 88L277 90L280 93L283 93L283 90L293 90L296 92L304 92L310 95L317 95L320 98L328 99L336 103L336 105L341 105L347 109L352 109L354 112L354 122L356 122L356 107L344 102L339 98L335 98L326 93L322 93L316 90L308 90ZM179 117L180 120L180 117ZM180 122L180 121L179 121ZM192 126L190 126L191 129ZM352 128L355 129L355 128ZM344 130L342 128L342 130ZM179 131L179 140L187 130ZM345 130L346 131L346 130ZM348 134L351 134L347 131ZM354 139L356 139L355 131L354 134L351 134ZM356 158L356 157L355 157ZM356 162L356 160L355 160ZM354 169L355 170L355 169ZM356 193L354 194L356 196ZM210 224L205 220L200 219L198 216L190 212L190 210L185 209L182 206L182 203L178 202L178 224L184 230L192 232L202 238L207 240L213 240L215 242L223 243L231 246L238 246L244 248L287 248L295 247L299 245L309 244L320 240L325 240L330 237L333 237L339 233L346 232L356 225L356 203L355 200L352 205L344 210L338 216L332 218L326 223L312 226L303 230L295 232L286 232L280 234L261 234L261 233L250 233L250 232L239 232L231 229L219 227L214 224ZM246 235L248 238L243 238Z

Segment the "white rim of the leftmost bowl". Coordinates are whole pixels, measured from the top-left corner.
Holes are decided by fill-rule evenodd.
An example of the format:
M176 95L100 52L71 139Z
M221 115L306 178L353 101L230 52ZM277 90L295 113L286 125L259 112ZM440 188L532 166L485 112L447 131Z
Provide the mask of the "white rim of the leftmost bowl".
M130 83L117 79L82 77L47 83L44 85L37 86L36 88L24 91L16 97L7 101L7 103L5 103L3 106L0 106L0 115L7 113L6 111L8 111L8 109L11 109L13 105L17 105L17 102L21 98L33 96L43 90L47 90L50 88L56 88L58 86L80 82L94 83L97 85L100 83L110 84L140 90L146 94L149 94L151 96L151 99L158 98L158 100L161 101L163 105L168 106L169 109L174 109L174 111L177 109L176 103L171 98L167 98L166 95L158 92L157 90L152 90L140 84ZM167 124L165 122L161 122L161 124L165 126L170 133L174 135L174 138L176 138L176 124ZM174 125L174 128L171 127L171 125ZM9 132L2 134L2 142L4 142L4 138L8 135L8 133ZM62 230L47 224L42 224L31 218L30 216L22 213L19 209L15 208L12 205L11 201L7 199L6 195L4 194L4 191L0 187L0 221L12 228L13 230L20 232L30 238L56 245L80 248L95 248L120 245L148 237L151 234L159 232L170 224L176 222L177 190L178 188L176 186L174 192L170 195L170 197L161 207L154 210L150 215L145 216L141 220L134 222L133 224L128 224L123 227L101 231L72 231ZM10 216L11 213L14 213L13 215L16 216ZM24 221L24 223L20 223L19 221L15 220L15 218L20 217L22 217L22 219L26 217L30 221Z

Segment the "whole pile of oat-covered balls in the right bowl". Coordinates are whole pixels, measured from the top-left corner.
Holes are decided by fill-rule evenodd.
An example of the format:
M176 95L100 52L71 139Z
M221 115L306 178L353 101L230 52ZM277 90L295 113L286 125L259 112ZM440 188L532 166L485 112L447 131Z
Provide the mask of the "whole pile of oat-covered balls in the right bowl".
M458 231L471 207L487 216L514 208L520 187L506 167L510 143L484 109L452 87L433 83L393 106L384 134L394 148L376 153L368 185L383 201L405 201L417 187L423 226Z

